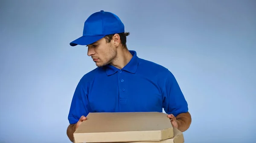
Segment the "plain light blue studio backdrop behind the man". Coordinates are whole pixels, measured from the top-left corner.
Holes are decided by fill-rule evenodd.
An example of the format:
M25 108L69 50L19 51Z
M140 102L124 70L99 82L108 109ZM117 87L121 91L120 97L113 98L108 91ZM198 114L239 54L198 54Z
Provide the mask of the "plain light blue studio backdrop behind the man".
M67 115L96 68L70 47L97 11L118 15L128 49L167 67L192 115L185 143L256 143L255 0L1 0L0 143L70 143Z

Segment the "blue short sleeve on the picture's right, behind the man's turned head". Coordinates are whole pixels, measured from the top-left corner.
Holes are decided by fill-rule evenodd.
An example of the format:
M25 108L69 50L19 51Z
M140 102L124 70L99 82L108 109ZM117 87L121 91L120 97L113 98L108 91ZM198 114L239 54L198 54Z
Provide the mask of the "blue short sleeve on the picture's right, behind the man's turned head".
M180 113L188 112L187 101L180 90L180 86L175 76L168 71L164 84L163 109L167 114L173 114L175 117Z

